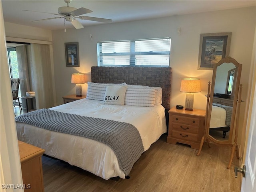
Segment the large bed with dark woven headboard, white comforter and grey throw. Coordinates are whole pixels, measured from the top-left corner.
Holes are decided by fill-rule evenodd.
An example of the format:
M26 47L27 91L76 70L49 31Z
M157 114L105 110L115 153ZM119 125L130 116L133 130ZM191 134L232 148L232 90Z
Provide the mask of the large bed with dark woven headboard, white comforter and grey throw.
M94 138L84 138L76 135L74 132L67 134L40 128L41 122L35 126L22 121L16 122L18 140L43 148L46 150L46 155L64 160L71 165L78 166L106 180L116 177L129 178L132 165L140 157L141 153L148 150L152 143L167 132L166 112L170 108L171 72L172 68L92 67L92 83L88 83L88 98L50 109L37 110L34 112L35 114L33 112L28 113L28 116L31 114L30 116L34 120L36 118L43 118L42 116L44 115L40 113L45 110L49 113L49 116L54 118L60 116L63 120L59 120L59 122L65 123L65 126L72 128L71 130L73 130L73 127L76 127L76 124L79 123L77 126L79 127L80 123L84 122L84 119L88 119L88 122L95 123L91 127L102 126L102 129L106 127L106 130L100 130L104 133L105 131L108 132L107 136L103 135L104 142ZM114 83L115 86L107 86L107 92L109 88L116 87L116 84L123 87L124 82L126 83L125 86L129 87L129 93L136 86L136 89L139 88L140 90L151 90L151 88L146 86L160 87L162 90L162 104L154 106L129 105L129 102L132 101L128 101L126 98L124 105L116 105L103 104L102 100L89 99L90 93L92 93L89 90L89 84L91 88L100 84ZM128 93L128 88L126 93ZM20 118L29 119L25 116ZM110 126L108 128L109 122L114 124L114 128L121 132L118 133L118 137L121 137L121 134L125 135L121 137L125 138L124 145L134 145L134 148L131 147L131 149L135 149L131 152L134 157L132 160L126 159L127 155L122 154L122 151L127 146L125 148L120 145L115 146L120 142L116 140L112 142L113 139L109 139L108 135L112 134ZM127 127L123 128L123 126L129 126L129 129ZM130 131L130 128L133 128L131 129L132 131ZM129 132L138 132L140 136L138 143L141 142L142 144L128 144L128 142L136 143L137 141L134 142L134 140L139 140L137 135L129 136ZM100 134L94 135L99 137L98 135ZM110 140L113 146L106 143L106 140ZM118 150L122 148L124 150L118 153ZM136 155L134 155L135 153Z

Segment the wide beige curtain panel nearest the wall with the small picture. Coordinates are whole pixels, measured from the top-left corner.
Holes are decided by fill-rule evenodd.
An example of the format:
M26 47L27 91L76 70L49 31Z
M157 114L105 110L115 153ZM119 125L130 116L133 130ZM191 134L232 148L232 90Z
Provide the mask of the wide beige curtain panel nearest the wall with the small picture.
M31 43L27 46L30 90L36 92L36 109L54 106L50 46Z

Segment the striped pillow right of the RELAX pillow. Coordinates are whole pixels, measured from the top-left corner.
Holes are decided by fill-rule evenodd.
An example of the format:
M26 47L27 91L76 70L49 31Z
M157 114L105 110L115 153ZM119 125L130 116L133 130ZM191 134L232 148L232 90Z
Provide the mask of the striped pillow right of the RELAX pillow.
M154 107L156 104L156 92L154 88L128 87L124 97L125 105Z

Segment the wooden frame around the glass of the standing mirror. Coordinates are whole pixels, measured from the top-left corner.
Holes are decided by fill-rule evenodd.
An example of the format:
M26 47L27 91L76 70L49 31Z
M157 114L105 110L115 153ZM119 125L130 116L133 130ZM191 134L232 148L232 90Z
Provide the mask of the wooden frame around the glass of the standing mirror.
M231 122L230 122L229 137L228 137L228 140L217 140L216 138L212 137L209 134L209 131L210 131L210 119L212 114L212 102L213 102L217 67L223 63L233 63L236 66L236 77L234 79L234 85L233 85L233 88L234 88L233 110L232 110L232 116L231 116ZM208 114L206 119L206 137L216 144L227 144L227 145L232 144L241 72L242 72L242 64L238 63L235 59L231 58L230 56L227 56L222 60L220 60L218 63L214 64L213 74L212 74L212 85L211 85L211 92L210 92L210 101L208 104Z

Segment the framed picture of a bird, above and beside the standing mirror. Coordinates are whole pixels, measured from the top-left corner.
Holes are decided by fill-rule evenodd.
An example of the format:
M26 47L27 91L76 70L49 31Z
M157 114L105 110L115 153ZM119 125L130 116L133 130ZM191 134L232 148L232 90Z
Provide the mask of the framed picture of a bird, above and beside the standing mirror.
M213 70L213 65L229 55L231 32L200 35L199 70Z

